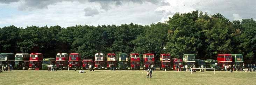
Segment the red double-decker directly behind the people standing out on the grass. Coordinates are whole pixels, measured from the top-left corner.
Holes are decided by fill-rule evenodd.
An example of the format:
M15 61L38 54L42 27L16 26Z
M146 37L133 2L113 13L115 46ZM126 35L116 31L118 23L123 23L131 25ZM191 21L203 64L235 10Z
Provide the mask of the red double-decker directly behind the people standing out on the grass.
M155 55L151 53L143 54L143 62L145 65L144 69L148 69L149 65L154 64L155 62Z

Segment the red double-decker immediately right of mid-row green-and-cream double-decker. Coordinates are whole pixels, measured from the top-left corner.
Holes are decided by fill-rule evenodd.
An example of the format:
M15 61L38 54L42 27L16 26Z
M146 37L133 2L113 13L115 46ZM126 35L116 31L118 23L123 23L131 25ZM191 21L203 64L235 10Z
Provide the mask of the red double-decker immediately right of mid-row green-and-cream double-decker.
M132 53L130 54L131 57L131 70L138 69L140 70L140 54Z

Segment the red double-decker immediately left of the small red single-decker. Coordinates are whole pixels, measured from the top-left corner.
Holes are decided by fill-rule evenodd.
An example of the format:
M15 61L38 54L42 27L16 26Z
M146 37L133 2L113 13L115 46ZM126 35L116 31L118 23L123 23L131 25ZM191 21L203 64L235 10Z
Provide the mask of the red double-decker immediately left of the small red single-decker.
M79 69L81 67L81 54L71 53L69 54L69 67L70 69Z

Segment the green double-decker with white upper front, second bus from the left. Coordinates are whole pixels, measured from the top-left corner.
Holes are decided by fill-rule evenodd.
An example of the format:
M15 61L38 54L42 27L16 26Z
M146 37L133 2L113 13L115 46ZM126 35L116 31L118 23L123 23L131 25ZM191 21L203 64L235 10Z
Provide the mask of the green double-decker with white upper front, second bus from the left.
M29 56L30 54L28 53L16 53L14 69L22 69L23 67L25 67L25 69L28 69Z

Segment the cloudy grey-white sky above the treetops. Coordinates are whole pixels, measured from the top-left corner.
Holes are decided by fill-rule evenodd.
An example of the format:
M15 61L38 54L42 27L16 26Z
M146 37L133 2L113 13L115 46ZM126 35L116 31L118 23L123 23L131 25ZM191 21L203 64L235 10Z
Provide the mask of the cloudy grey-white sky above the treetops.
M200 10L229 20L256 18L256 0L0 0L0 27L164 22Z

